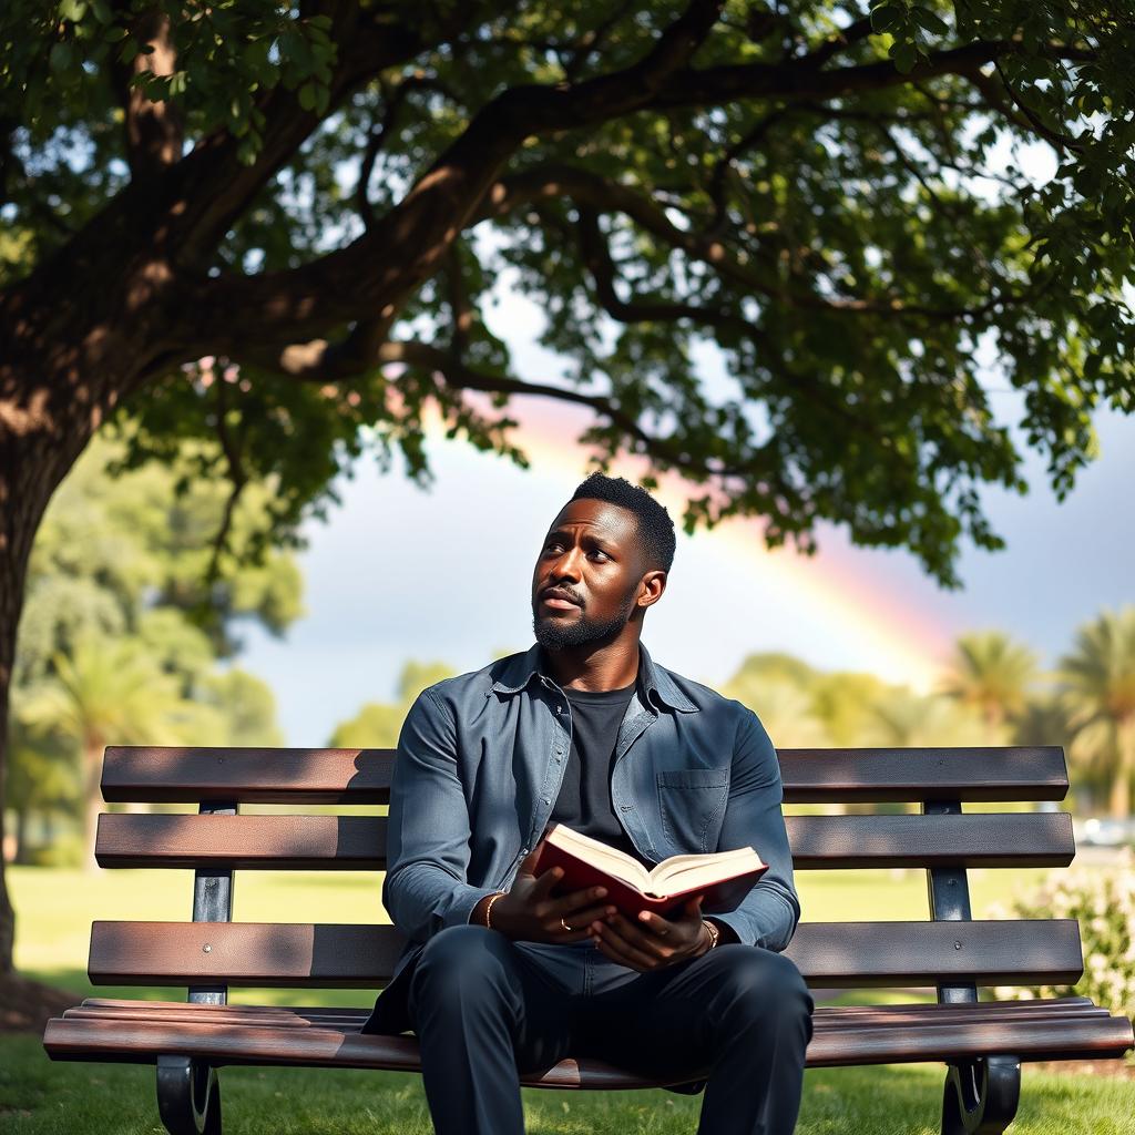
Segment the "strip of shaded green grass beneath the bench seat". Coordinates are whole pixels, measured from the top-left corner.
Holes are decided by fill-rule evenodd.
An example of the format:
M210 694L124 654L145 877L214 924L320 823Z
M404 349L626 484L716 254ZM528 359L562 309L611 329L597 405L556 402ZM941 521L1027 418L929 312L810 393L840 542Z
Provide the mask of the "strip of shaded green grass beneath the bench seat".
M805 1077L799 1135L935 1135L941 1066L816 1069ZM226 1068L227 1135L430 1135L411 1073ZM661 1090L523 1090L530 1135L690 1135L701 1096ZM1133 1135L1135 1083L1027 1068L1012 1135ZM0 1036L6 1135L153 1135L151 1067L52 1062L35 1036Z

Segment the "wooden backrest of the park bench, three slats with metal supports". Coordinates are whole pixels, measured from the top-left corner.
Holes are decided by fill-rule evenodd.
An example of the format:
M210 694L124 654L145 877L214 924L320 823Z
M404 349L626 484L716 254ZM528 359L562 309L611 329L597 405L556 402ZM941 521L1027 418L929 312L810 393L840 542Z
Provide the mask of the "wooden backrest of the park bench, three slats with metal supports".
M1066 813L962 812L969 801L1063 799L1060 748L782 749L779 757L787 804L922 808L788 817L798 871L920 867L927 875L927 920L801 923L788 952L810 984L936 986L940 1000L970 1001L978 985L1079 977L1075 920L973 920L966 875L1071 861ZM98 860L194 871L193 922L95 923L92 982L186 985L192 1000L218 1002L232 985L384 985L403 944L392 926L230 918L236 871L386 866L385 816L239 815L241 805L382 805L393 763L389 749L108 748L108 801L195 804L199 814L104 814Z

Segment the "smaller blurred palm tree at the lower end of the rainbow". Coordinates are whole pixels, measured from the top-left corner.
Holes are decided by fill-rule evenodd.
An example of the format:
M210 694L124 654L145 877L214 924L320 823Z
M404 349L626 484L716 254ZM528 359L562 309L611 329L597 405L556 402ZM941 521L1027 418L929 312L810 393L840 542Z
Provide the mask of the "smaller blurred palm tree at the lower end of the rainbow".
M962 634L955 644L942 692L976 708L990 729L986 743L1022 714L1037 678L1036 655L1001 631Z

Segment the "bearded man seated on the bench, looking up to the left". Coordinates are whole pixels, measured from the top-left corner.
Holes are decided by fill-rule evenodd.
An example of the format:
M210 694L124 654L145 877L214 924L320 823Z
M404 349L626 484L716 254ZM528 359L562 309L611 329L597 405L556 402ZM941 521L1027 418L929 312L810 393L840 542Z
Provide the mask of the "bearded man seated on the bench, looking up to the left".
M639 641L674 546L645 489L594 473L537 557L536 645L406 716L382 901L410 942L363 1031L417 1033L439 1135L521 1135L518 1071L569 1054L704 1087L700 1133L796 1125L812 999L779 952L800 913L780 768L750 709ZM751 846L770 869L732 911L634 923L531 873L553 822L647 865Z

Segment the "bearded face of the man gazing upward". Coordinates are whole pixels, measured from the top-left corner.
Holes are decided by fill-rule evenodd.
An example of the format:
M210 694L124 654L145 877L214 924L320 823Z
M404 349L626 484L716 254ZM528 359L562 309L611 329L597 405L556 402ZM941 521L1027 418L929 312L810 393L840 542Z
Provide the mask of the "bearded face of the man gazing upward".
M572 501L544 538L532 573L532 631L561 650L611 642L636 609L644 566L634 513L606 501ZM563 598L550 598L546 591Z

